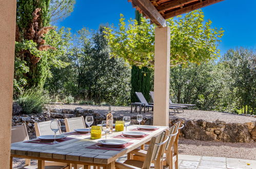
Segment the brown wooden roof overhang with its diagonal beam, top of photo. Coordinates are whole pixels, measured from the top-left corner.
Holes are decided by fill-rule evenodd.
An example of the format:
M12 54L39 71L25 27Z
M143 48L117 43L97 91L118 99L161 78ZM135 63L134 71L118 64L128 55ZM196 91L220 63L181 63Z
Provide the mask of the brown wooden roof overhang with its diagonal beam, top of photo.
M165 19L200 9L224 0L128 0L152 23L166 27Z

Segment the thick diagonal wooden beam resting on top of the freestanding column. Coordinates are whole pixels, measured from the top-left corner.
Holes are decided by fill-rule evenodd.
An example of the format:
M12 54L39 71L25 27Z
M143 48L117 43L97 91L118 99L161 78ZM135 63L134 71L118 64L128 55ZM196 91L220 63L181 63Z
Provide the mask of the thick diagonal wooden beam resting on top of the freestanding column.
M139 7L150 20L160 28L166 27L165 18L157 11L149 0L132 0L132 3Z

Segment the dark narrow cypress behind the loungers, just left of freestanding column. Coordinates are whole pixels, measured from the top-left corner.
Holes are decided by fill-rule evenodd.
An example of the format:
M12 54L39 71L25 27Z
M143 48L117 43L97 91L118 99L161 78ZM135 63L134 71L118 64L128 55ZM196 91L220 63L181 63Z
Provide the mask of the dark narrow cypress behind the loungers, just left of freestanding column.
M135 11L135 19L138 24L141 23L142 14L139 11ZM131 69L131 102L137 102L135 92L142 92L146 100L150 100L149 91L152 88L151 81L152 70L147 67L142 67L141 69L137 66L132 66Z

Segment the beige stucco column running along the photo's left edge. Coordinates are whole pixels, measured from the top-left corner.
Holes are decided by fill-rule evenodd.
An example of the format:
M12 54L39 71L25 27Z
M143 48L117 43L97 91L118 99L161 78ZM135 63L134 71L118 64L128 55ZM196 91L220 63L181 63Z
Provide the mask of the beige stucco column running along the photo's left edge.
M0 0L0 166L9 168L16 0Z

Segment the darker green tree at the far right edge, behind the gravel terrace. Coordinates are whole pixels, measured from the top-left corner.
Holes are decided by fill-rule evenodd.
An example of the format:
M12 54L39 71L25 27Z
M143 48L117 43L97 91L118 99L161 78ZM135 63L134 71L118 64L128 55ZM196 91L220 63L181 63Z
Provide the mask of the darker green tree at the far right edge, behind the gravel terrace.
M253 50L237 48L228 50L223 58L231 75L231 88L237 98L237 109L253 113L256 106L256 53Z

